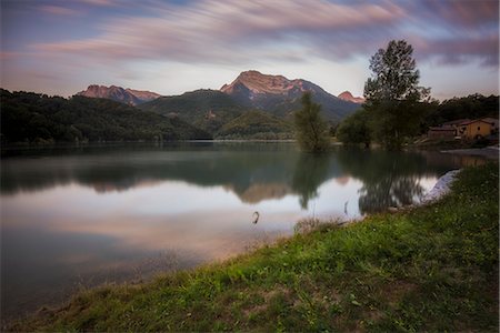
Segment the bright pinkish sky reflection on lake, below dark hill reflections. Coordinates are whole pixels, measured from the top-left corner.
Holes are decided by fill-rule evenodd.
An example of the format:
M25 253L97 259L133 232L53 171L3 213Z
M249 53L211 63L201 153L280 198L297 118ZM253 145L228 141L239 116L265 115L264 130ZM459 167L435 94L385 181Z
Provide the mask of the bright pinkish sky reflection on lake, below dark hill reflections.
M106 195L70 184L3 196L2 285L9 291L2 299L9 306L2 313L36 310L77 282L93 285L192 268L290 234L301 216L292 199L243 204L221 186L183 182ZM251 223L256 210L257 225Z

